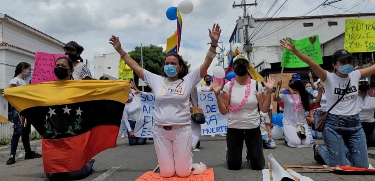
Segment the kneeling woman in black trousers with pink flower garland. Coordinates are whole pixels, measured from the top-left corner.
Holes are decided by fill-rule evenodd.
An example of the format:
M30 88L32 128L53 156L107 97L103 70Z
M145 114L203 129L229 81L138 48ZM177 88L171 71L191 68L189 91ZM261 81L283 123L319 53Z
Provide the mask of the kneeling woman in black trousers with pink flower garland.
M230 170L241 169L242 148L245 141L248 148L246 158L250 160L252 169L261 170L265 162L258 108L268 113L275 80L267 77L267 82L263 82L267 90L264 95L261 83L248 75L249 60L246 56L237 55L233 59L233 68L236 77L226 83L223 89L216 81L212 85L220 113L228 114L226 162ZM220 95L221 90L223 90L223 97Z

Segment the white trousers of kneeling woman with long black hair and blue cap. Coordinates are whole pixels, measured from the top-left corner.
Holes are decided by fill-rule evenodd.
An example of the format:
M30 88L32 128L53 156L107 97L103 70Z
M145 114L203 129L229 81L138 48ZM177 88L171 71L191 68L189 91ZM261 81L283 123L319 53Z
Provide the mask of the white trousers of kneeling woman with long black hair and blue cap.
M306 148L310 147L313 144L311 131L307 125L304 126L306 128L306 138L301 139L297 135L296 127L292 125L283 125L285 141L288 142L288 146L293 148Z

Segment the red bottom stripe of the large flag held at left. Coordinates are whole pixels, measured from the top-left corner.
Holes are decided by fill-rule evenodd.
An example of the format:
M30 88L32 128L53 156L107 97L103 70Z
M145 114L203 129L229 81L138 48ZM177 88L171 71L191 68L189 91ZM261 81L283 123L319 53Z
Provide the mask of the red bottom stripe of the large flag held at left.
M42 139L44 172L48 174L82 169L98 153L114 148L119 126L96 126L78 136Z

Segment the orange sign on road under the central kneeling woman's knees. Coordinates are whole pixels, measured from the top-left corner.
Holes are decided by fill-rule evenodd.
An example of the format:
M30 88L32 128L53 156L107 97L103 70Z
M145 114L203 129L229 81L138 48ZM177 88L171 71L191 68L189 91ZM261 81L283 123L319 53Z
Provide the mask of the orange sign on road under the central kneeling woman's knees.
M135 181L214 181L215 177L213 169L207 169L203 174L194 175L191 174L189 177L178 177L173 176L170 178L164 178L159 173L146 172L141 177L138 177Z

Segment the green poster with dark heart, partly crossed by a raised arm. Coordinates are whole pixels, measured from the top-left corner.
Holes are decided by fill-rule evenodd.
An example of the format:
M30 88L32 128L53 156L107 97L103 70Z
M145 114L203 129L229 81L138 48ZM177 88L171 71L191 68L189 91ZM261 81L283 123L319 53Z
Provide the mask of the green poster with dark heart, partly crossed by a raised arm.
M320 49L319 36L314 35L301 40L292 40L286 38L294 43L297 50L303 54L311 57L317 64L323 64L322 50ZM284 48L282 53L281 67L287 68L300 68L309 67L308 64L299 59L293 52Z

